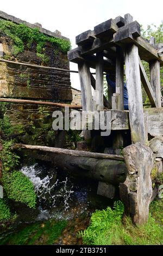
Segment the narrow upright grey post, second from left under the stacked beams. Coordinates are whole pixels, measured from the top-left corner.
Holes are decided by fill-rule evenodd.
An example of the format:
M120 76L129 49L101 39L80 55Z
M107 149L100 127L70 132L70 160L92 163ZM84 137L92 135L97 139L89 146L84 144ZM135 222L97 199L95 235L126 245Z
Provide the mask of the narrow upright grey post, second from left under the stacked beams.
M103 55L101 52L96 53L96 105L97 110L104 109L103 100Z

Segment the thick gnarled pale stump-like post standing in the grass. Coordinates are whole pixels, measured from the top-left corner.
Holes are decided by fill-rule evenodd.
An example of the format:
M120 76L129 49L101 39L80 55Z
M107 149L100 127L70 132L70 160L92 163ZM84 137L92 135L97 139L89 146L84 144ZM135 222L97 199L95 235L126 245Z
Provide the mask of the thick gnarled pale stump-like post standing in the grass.
M148 221L149 204L152 198L151 171L154 156L151 148L137 142L123 149L128 174L124 184L127 187L129 212L134 224ZM121 186L120 186L121 188ZM124 188L123 188L124 189ZM124 189L125 190L125 189ZM122 191L124 195L126 192Z

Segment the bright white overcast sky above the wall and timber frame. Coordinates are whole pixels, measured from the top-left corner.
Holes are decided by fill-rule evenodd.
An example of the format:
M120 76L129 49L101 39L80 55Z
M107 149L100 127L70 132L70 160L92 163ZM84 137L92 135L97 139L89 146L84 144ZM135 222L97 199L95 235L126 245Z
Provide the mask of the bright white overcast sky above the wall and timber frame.
M58 29L70 38L72 48L76 35L116 16L130 13L145 28L151 23L159 26L163 20L162 0L5 0L0 9L30 23L39 22L50 31ZM71 64L71 69L77 65ZM78 74L71 75L71 82L80 88Z

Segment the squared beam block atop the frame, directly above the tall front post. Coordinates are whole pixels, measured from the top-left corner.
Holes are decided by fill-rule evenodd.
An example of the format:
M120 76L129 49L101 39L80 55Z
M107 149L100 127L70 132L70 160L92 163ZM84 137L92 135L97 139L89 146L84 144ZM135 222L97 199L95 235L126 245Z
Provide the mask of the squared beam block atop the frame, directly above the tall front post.
M114 42L122 42L125 39L134 39L140 36L140 25L137 21L133 21L121 28L118 28L117 32L114 34Z

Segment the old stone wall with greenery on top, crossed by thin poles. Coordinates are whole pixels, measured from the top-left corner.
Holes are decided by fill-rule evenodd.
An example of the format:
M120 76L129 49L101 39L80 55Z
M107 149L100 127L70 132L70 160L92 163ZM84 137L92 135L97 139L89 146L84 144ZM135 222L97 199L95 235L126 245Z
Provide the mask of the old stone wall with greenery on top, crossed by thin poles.
M70 40L0 11L0 57L11 61L69 69ZM0 62L0 97L71 103L70 73ZM13 124L27 124L52 113L51 106L10 104Z

